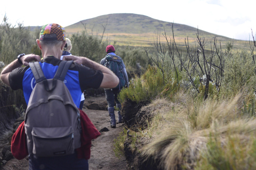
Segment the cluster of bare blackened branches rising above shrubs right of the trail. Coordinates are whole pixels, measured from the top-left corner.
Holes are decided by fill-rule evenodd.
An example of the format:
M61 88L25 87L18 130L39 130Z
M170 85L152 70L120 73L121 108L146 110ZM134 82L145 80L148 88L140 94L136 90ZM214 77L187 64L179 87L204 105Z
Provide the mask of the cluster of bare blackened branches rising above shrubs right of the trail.
M192 84L193 88L199 93L199 89L194 83L195 75L200 78L201 85L205 87L204 99L207 99L209 94L210 82L215 83L217 90L220 90L221 80L223 78L224 67L225 67L225 57L223 56L221 43L218 45L217 38L210 42L210 53L205 50L206 41L201 39L199 36L199 29L197 29L196 38L197 45L194 48L189 46L189 38L185 38L185 45L187 49L186 55L182 55L182 50L178 48L175 42L174 29L172 24L172 37L167 37L166 31L164 29L163 37L166 41L166 46L161 44L160 36L157 35L156 41L154 41L155 48L157 50L157 57L149 57L147 50L147 56L149 59L149 64L155 69L155 66L160 69L163 73L163 79L165 78L164 62L165 58L163 54L167 54L172 61L173 70L175 71L178 80L178 71L184 70L188 76L189 82ZM254 46L256 43L254 41ZM165 53L167 52L167 53ZM177 62L175 60L179 61ZM153 65L154 64L154 65ZM179 69L180 68L180 69ZM156 69L155 69L156 71ZM205 77L204 77L205 75ZM204 78L204 80L203 80Z

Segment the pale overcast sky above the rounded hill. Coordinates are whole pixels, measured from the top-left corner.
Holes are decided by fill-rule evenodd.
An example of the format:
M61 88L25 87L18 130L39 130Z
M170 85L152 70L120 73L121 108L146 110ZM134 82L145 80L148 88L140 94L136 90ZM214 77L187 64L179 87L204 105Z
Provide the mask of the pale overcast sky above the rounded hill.
M0 2L0 23L6 14L12 25L58 23L67 27L100 15L134 13L233 39L252 40L256 33L255 6L254 0L12 0Z

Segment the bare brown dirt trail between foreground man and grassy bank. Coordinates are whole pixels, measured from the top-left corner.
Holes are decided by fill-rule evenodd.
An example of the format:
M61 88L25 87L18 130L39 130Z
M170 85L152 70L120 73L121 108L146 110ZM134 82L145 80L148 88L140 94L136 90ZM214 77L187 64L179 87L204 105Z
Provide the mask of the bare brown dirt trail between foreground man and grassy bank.
M103 98L105 99L105 97ZM114 153L114 139L123 130L123 124L117 124L116 128L110 128L108 111L98 111L83 109L92 123L100 131L107 128L109 131L101 132L101 135L92 141L91 158L89 159L89 169L123 170L126 169L125 158L118 159ZM116 113L117 115L117 113ZM117 116L116 116L117 117Z

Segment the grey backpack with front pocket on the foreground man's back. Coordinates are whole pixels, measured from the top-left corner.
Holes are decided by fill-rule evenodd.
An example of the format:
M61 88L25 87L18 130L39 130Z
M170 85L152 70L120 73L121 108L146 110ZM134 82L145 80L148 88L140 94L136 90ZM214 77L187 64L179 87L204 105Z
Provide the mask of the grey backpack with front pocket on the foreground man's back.
M63 156L81 146L80 112L63 82L72 62L62 61L53 79L45 78L38 62L29 63L36 80L25 115L29 154Z

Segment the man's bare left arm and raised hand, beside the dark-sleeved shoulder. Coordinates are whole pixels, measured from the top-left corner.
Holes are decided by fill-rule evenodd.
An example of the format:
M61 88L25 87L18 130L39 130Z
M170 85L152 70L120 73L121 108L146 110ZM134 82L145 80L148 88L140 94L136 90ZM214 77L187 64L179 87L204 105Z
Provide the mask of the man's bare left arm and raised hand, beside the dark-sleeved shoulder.
M35 55L35 54L28 54L28 55L24 55L20 58L20 60L22 61L22 63L24 65L28 65L29 62L31 61L40 61L41 57L39 55ZM4 82L5 84L7 84L8 86L10 86L9 83L9 74L16 68L21 67L22 64L20 64L17 60L14 60L13 62L11 62L9 65L7 65L6 67L4 67L1 75L0 75L0 79L2 80L2 82Z

